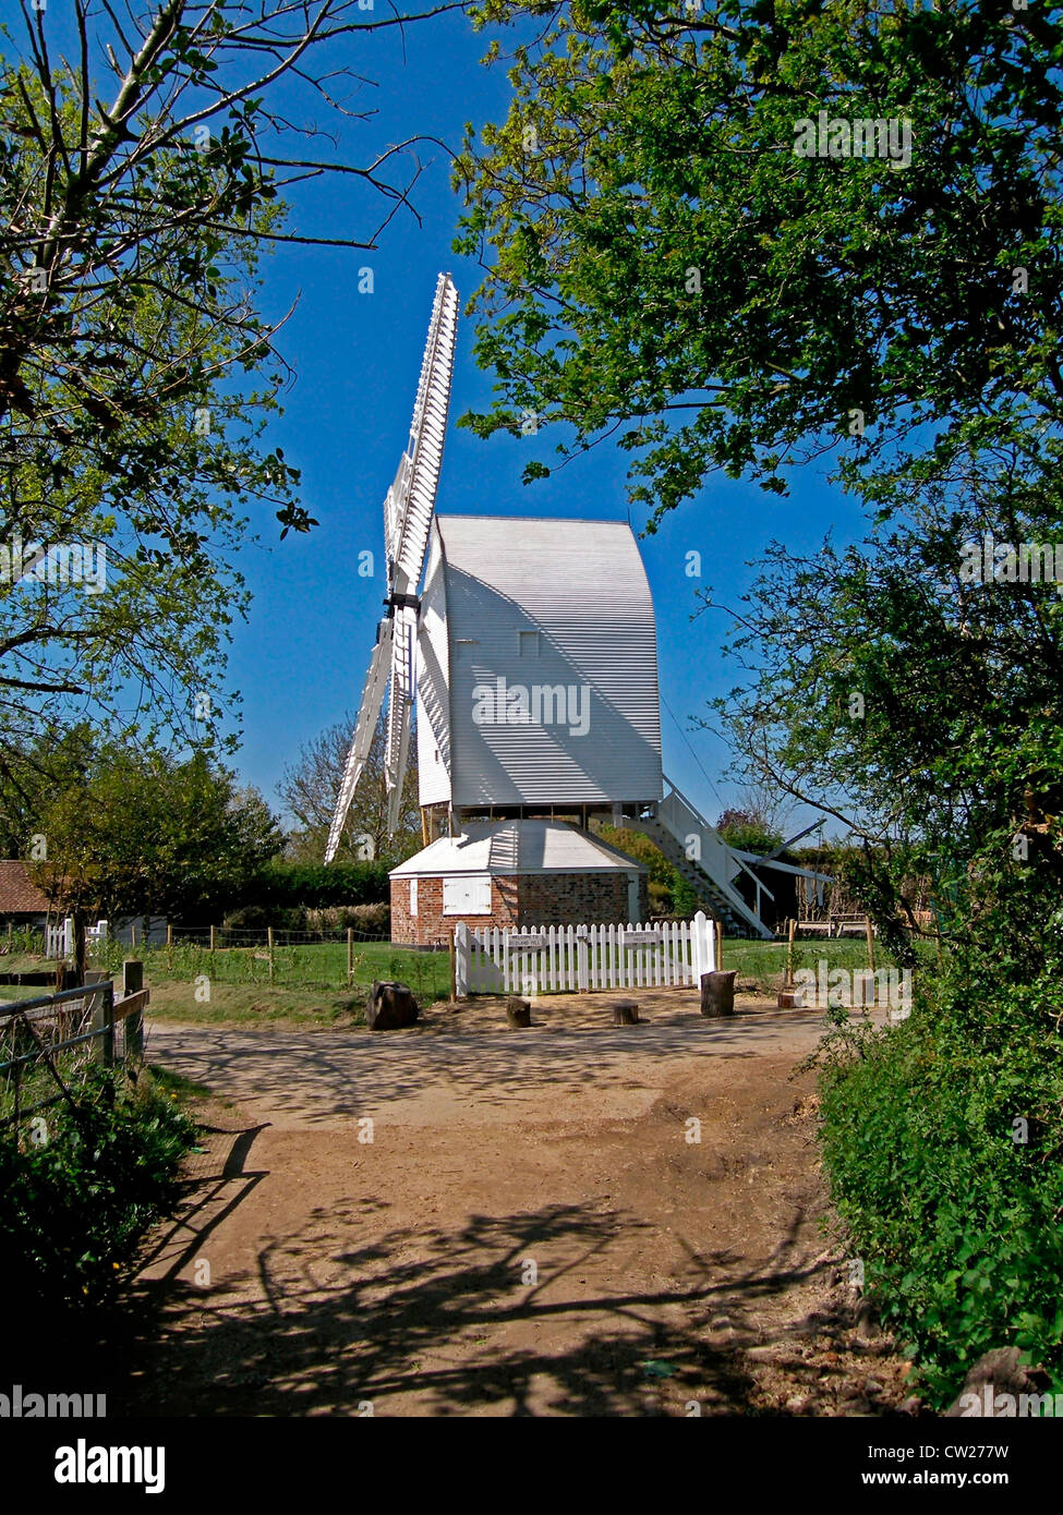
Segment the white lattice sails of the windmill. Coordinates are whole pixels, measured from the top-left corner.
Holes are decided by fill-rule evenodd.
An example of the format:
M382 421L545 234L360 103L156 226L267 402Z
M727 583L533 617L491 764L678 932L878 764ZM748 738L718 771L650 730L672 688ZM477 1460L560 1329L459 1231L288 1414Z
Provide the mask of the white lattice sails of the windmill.
M390 685L384 773L388 792L388 832L399 824L402 785L409 756L409 723L414 701L417 650L417 585L425 567L425 550L435 508L435 491L443 462L450 371L458 330L458 291L449 274L440 274L428 327L425 358L417 385L409 442L399 462L394 483L384 501L384 545L387 561L388 614L376 632L376 647L368 664L355 735L337 798L325 861L332 862L347 820L350 801L368 758L373 732L381 715L384 691Z

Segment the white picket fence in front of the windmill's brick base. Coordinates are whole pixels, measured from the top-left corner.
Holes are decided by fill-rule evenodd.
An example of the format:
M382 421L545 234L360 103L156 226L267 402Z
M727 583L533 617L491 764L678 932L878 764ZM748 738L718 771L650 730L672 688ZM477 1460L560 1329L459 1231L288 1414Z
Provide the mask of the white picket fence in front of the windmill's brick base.
M459 921L453 956L459 995L698 985L716 967L716 927L704 911L693 921L660 926L525 926L514 932L470 930Z

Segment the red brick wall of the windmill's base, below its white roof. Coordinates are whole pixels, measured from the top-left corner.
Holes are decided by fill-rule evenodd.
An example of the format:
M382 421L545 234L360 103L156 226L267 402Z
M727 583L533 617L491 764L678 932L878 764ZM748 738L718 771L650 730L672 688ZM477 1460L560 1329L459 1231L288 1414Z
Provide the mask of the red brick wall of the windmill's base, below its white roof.
M646 874L638 877L638 918L649 914ZM409 879L391 880L391 941L446 947L458 921L478 926L575 926L626 921L626 873L517 874L491 879L490 915L444 915L443 879L417 880L417 915L409 914Z

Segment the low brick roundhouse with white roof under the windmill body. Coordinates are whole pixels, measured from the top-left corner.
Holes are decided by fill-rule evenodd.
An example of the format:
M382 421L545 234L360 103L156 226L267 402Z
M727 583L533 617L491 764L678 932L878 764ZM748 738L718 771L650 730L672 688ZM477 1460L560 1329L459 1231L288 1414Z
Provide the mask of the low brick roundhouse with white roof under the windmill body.
M391 941L446 945L470 929L643 921L646 868L597 836L552 820L467 821L390 873Z

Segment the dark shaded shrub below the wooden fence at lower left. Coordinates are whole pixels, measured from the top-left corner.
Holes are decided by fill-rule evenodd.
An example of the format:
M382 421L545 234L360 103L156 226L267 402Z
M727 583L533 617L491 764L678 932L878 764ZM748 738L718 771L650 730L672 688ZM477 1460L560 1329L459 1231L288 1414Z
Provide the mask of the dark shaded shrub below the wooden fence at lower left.
M47 1115L45 1145L0 1139L0 1277L18 1309L109 1300L147 1227L171 1210L196 1129L150 1074L93 1073Z

